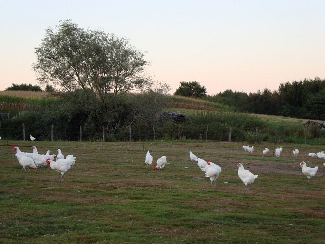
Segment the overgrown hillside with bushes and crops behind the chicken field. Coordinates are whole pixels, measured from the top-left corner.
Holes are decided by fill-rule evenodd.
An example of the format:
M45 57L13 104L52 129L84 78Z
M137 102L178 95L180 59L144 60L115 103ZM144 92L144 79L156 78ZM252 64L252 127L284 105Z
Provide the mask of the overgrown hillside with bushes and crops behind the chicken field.
M10 94L10 95L9 95ZM289 142L324 144L325 131L304 124L308 119L289 118L235 112L235 109L203 99L180 96L162 98L133 95L105 103L83 98L82 92L68 100L53 98L43 92L1 92L1 112L9 120L2 122L6 138L21 140L22 124L28 133L42 140L79 140L80 128L83 140L91 141L135 141L141 140L212 140L261 142ZM143 101L141 102L142 98ZM95 100L94 100L95 99ZM135 100L134 100L135 99ZM164 102L160 110L150 110L148 102L156 99ZM135 101L135 102L134 102ZM134 107L136 104L138 107ZM94 109L94 108L98 109ZM102 113L102 110L106 110ZM187 115L190 123L157 119L159 111L177 112ZM151 112L153 111L153 112ZM134 113L136 112L136 113ZM152 116L155 114L155 116ZM20 116L24 115L24 116ZM19 117L19 119L15 119ZM321 121L318 121L321 122ZM131 124L131 127L130 127ZM54 126L54 127L53 127ZM53 127L54 131L49 131ZM231 132L229 131L231 128ZM1 132L3 134L3 132ZM230 135L231 134L231 135ZM103 139L104 138L104 139Z

